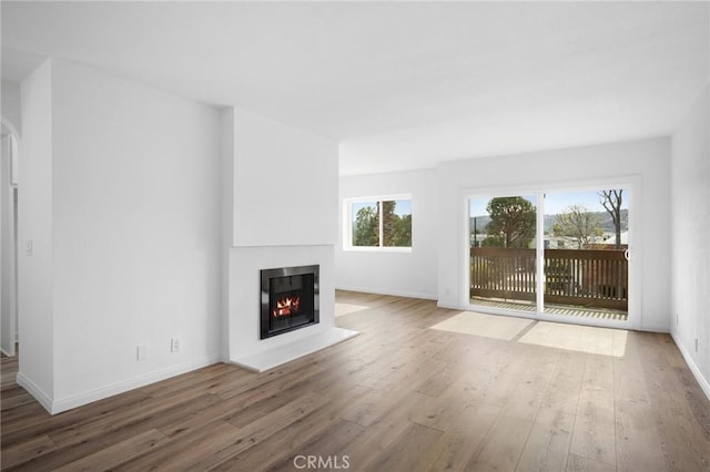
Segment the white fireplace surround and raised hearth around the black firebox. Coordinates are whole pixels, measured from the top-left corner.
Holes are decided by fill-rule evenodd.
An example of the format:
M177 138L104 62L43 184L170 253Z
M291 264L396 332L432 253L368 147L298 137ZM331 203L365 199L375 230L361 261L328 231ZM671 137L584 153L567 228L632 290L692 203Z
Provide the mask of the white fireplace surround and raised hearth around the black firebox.
M321 266L321 320L317 325L260 339L260 270ZM356 336L335 326L334 246L232 247L229 273L229 359L258 372Z

